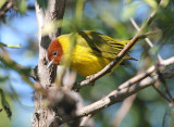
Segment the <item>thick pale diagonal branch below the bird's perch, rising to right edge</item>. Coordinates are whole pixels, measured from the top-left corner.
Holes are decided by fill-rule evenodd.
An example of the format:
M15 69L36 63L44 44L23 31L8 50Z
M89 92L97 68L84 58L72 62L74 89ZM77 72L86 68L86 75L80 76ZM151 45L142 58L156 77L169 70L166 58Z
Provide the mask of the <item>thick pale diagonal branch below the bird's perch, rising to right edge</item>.
M174 64L174 56L170 58L167 60L163 60L161 63L164 67L171 64ZM117 90L113 90L110 92L107 97L102 98L101 100L87 105L83 109L80 109L75 117L65 117L62 119L62 123L72 120L77 117L83 117L89 114L94 114L98 111L101 111L102 109L105 109L114 103L122 102L127 97L137 93L138 91L150 87L152 84L154 84L157 80L159 80L158 74L151 75L152 72L154 72L156 66L151 66L146 72L136 75L135 77L130 78L126 82L120 85ZM149 74L148 72L151 71ZM139 76L140 75L140 76ZM170 68L163 73L163 76L165 79L174 77L174 68Z

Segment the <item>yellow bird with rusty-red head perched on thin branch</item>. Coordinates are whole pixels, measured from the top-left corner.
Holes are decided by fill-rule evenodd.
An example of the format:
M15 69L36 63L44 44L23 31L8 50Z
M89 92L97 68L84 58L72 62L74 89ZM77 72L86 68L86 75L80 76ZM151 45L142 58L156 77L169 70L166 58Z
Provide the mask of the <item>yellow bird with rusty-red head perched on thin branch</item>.
M152 34L145 34L139 39L146 38L149 35ZM73 37L75 38L75 46L72 49ZM129 41L115 40L94 30L61 35L52 40L48 47L47 56L49 64L47 68L51 65L66 65L83 76L90 76L113 61ZM122 61L136 60L128 54L129 52ZM70 65L66 64L67 61Z

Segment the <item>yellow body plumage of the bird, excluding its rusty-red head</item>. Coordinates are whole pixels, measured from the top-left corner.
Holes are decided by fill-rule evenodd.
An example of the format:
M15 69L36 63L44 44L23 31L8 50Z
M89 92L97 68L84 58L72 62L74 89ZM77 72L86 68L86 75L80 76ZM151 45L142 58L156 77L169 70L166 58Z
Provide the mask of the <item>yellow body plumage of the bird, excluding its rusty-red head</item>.
M75 34L76 45L71 52L71 68L83 76L98 73L108 65L129 40L116 41L113 38L96 31L79 31ZM70 47L73 34L62 35L57 39L63 49L63 59L70 59ZM125 55L124 59L133 59ZM134 60L134 59L133 59Z

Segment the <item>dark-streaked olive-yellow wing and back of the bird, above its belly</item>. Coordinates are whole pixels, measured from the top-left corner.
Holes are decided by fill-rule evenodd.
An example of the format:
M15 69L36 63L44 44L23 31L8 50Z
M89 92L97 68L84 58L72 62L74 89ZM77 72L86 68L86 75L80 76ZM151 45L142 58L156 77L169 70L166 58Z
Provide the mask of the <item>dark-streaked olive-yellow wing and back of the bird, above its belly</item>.
M94 55L111 60L113 60L122 51L125 45L129 42L129 40L116 41L107 35L91 30L79 31L77 38L77 45L86 48L90 47L90 53ZM128 54L125 55L124 59L135 60Z

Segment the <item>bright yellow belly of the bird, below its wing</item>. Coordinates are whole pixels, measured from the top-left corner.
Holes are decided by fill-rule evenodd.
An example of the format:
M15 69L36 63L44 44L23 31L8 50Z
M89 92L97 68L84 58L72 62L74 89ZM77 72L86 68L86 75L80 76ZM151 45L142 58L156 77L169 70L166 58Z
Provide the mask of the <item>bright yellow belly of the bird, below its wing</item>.
M88 48L76 47L71 67L83 76L89 76L101 71L111 60L90 53Z

